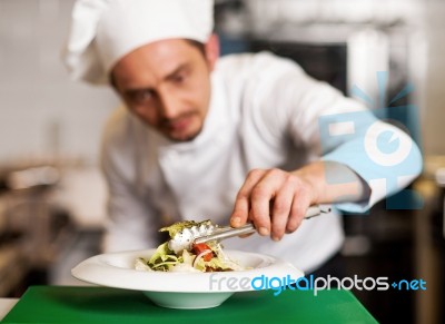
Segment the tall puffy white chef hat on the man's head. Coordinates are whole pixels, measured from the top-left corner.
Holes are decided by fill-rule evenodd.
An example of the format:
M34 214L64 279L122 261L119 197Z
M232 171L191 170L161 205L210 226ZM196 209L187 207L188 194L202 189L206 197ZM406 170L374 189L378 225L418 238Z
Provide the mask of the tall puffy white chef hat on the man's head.
M130 51L161 39L206 42L212 28L212 0L78 0L62 60L71 78L108 84Z

